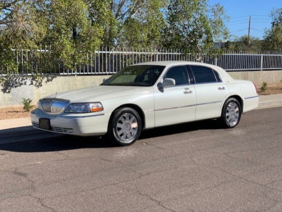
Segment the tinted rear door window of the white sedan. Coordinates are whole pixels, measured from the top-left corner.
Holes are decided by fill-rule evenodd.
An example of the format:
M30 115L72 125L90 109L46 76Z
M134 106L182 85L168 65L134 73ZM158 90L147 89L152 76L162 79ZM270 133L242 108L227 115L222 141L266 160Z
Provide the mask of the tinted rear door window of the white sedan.
M190 66L195 78L195 83L221 82L219 74L213 69L205 66Z

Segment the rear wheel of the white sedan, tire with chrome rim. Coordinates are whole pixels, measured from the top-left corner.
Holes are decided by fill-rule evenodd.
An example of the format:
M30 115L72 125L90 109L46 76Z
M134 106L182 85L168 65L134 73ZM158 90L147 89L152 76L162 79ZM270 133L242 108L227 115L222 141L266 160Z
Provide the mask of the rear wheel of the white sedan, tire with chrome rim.
M221 122L224 128L235 127L241 119L241 112L241 105L237 99L227 99L221 113Z

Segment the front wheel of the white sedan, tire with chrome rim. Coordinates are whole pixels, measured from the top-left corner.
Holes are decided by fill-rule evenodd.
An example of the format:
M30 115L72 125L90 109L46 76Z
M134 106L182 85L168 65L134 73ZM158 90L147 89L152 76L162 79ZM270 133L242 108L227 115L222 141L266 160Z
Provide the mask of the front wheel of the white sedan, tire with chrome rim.
M125 107L114 111L108 126L108 138L119 146L129 146L140 136L142 122L136 110Z

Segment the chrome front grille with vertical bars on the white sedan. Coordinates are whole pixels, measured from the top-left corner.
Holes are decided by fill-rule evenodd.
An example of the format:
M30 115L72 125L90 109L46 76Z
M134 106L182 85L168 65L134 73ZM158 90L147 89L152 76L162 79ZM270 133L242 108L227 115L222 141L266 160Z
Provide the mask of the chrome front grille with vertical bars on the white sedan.
M65 109L68 103L68 100L62 99L43 99L41 101L41 107L45 112L60 113Z

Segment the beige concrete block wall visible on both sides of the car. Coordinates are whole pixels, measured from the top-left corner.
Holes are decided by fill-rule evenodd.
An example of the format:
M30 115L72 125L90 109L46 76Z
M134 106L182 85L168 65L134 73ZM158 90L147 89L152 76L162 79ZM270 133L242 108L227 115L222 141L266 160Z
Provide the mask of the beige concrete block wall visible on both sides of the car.
M234 71L228 72L233 79L250 80L259 89L263 82L268 86L277 86L282 79L282 70L274 71ZM91 75L91 76L48 76L41 84L35 84L31 78L11 78L4 85L0 85L0 108L9 106L23 106L23 99L31 99L32 104L56 92L73 90L83 87L99 85L103 79L110 75ZM280 84L281 85L281 84Z

